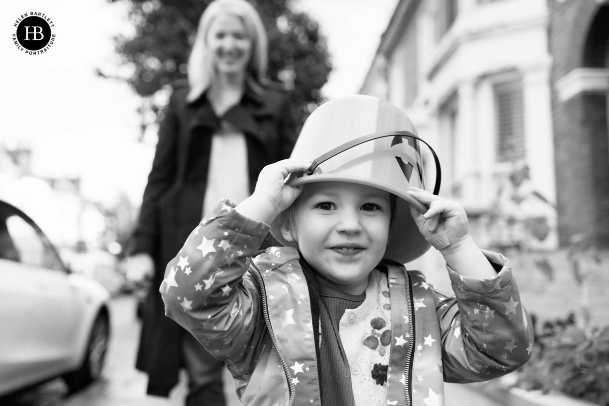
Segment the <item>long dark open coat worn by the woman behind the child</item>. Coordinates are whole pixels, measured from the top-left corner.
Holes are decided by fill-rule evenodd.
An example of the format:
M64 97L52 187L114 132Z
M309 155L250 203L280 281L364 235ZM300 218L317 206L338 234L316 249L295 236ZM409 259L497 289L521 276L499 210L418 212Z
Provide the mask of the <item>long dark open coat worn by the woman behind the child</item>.
M205 94L186 102L188 91L188 85L175 85L164 110L132 250L155 261L136 368L149 375L148 393L160 396L167 396L178 382L181 336L189 333L165 317L158 286L167 262L201 220L211 139L220 118L245 135L252 191L260 170L288 158L297 138L289 97L278 89L265 87L258 94L248 88L239 105L220 118ZM227 164L230 159L227 156Z

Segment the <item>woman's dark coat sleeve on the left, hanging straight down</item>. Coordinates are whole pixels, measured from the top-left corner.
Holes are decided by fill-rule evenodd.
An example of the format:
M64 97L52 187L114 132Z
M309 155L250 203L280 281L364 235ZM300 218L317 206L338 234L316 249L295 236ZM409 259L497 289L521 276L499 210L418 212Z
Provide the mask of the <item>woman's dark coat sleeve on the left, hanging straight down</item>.
M175 179L180 131L175 92L169 98L163 113L152 169L144 189L138 224L133 233L131 254L154 253L158 238L158 200Z

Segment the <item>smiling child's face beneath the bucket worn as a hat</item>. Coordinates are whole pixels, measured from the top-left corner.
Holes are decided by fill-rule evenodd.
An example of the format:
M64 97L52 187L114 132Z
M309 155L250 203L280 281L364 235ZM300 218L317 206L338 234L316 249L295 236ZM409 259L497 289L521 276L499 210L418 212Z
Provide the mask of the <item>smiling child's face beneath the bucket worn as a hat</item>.
M389 239L389 192L348 182L306 184L294 202L294 228L283 237L297 242L323 284L361 295Z

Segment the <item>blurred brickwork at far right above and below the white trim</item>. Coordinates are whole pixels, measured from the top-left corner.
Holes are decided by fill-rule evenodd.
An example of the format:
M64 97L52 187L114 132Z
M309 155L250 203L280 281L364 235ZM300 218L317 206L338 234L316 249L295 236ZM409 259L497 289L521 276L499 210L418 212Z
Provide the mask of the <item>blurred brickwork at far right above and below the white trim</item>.
M609 5L596 0L548 0L548 7L554 84L584 66L585 49L590 49L586 41L609 37L605 29L590 40L594 18ZM561 102L553 90L552 115L560 245L567 247L574 234L587 233L609 247L607 96L583 94Z

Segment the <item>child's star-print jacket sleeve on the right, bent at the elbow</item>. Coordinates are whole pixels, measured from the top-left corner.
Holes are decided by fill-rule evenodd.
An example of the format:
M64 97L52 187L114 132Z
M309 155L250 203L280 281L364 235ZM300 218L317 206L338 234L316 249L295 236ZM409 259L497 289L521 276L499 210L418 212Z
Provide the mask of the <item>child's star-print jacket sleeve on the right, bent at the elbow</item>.
M523 366L533 347L533 328L509 261L484 251L501 270L475 279L448 267L454 296L436 292L446 382L479 382Z

